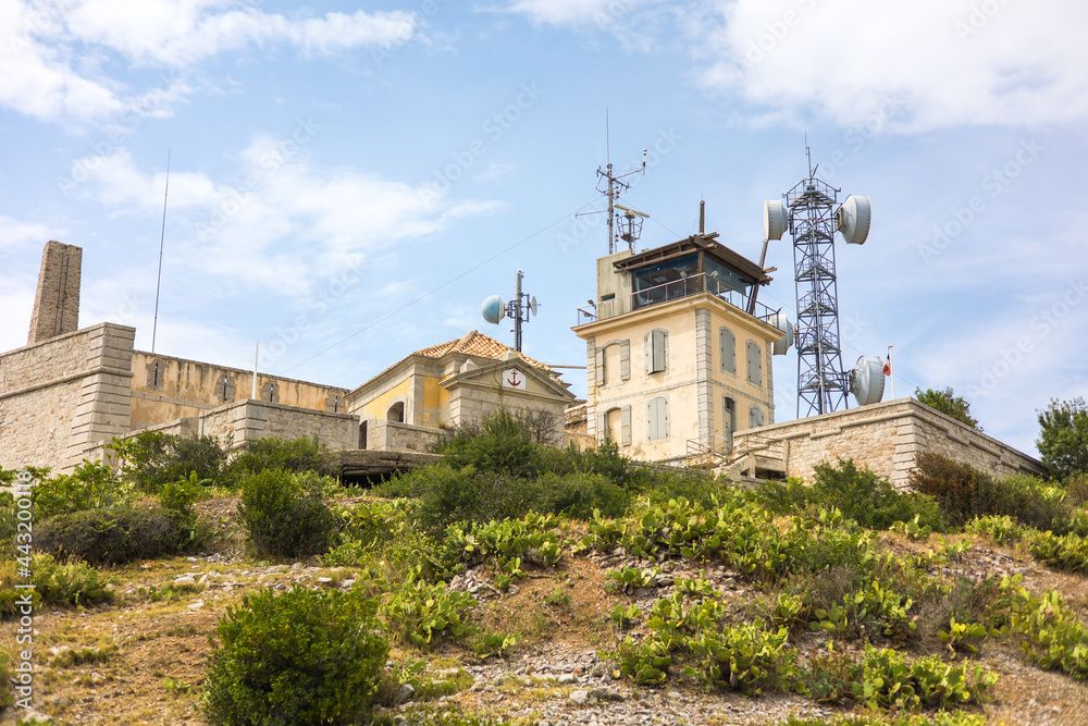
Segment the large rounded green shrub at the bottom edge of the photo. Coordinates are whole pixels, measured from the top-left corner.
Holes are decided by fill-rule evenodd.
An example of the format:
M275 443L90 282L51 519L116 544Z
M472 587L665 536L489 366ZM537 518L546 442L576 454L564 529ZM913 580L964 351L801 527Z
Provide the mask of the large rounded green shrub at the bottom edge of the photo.
M376 604L356 592L265 590L227 607L208 659L203 709L213 724L348 725L375 703L388 643Z

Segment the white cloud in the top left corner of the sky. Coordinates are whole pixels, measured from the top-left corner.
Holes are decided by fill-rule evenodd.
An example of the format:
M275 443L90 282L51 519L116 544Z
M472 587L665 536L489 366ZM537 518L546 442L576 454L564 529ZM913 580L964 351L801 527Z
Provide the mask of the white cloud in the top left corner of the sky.
M42 120L163 115L191 89L133 90L102 71L110 61L186 70L218 53L286 44L304 57L392 48L417 35L408 12L285 17L224 10L223 0L0 0L0 106Z

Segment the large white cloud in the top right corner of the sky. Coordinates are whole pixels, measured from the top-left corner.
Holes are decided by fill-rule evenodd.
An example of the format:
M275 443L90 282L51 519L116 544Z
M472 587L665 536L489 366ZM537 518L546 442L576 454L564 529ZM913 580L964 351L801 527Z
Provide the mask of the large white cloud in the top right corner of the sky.
M692 10L700 81L771 109L845 125L893 102L902 108L891 126L906 131L1088 115L1083 3L732 0Z

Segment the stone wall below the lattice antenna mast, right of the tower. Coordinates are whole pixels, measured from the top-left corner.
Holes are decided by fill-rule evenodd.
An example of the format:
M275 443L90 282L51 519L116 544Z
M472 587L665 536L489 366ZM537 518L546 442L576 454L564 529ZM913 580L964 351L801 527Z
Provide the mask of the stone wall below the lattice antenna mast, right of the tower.
M942 454L996 477L1043 471L1037 459L914 398L738 431L733 452L781 459L787 475L808 481L816 464L843 457L905 487L920 452Z

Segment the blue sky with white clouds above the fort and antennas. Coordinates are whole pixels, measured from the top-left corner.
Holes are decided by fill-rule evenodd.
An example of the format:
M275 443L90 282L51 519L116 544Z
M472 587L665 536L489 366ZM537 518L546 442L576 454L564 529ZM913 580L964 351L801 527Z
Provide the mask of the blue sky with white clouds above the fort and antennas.
M1037 413L1088 395L1084 27L1074 0L0 0L0 350L57 239L81 325L141 350L248 369L259 343L267 373L355 387L471 330L512 345L480 304L521 270L524 352L584 366L597 169L646 149L640 249L702 199L758 260L807 140L873 201L836 246L845 368L893 345L897 397L951 386L1035 454ZM767 264L795 320L788 236ZM777 420L796 371L775 358Z

